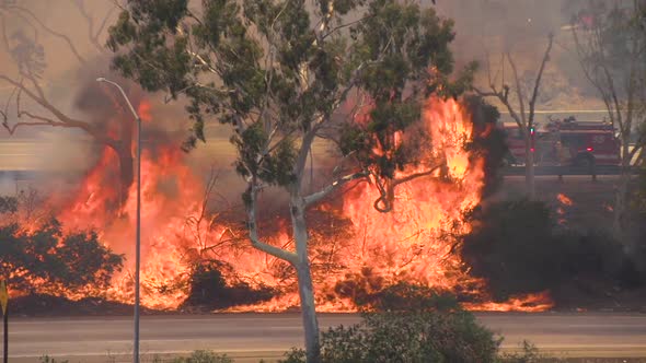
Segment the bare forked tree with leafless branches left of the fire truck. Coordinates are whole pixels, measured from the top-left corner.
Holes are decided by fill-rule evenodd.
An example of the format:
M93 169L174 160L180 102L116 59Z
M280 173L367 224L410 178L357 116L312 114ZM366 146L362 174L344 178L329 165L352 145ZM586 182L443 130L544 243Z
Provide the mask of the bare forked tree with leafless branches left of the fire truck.
M500 67L504 68L505 63L508 62L511 67L511 75L512 78L512 85L507 84L505 81L505 73L503 72L503 77L500 79L500 84L498 85L497 75L492 78L491 67L487 66L487 75L488 75L488 90L474 87L474 91L483 96L483 97L493 97L498 99L509 112L509 115L516 121L520 130L520 134L524 140L524 180L527 185L527 195L528 198L534 199L535 198L535 185L534 185L534 152L532 148L532 130L535 127L534 122L534 112L537 105L537 98L539 96L539 91L541 87L541 80L543 77L543 71L545 70L545 65L550 60L550 52L552 51L552 44L553 44L553 35L550 34L547 37L547 47L545 48L545 52L539 66L539 70L537 71L537 77L532 85L532 91L530 95L526 95L523 93L523 87L520 84L520 78L518 75L518 68L516 67L516 62L511 57L509 50L507 50L501 60ZM488 59L487 59L488 65ZM510 94L514 92L514 94ZM528 109L529 107L529 109Z

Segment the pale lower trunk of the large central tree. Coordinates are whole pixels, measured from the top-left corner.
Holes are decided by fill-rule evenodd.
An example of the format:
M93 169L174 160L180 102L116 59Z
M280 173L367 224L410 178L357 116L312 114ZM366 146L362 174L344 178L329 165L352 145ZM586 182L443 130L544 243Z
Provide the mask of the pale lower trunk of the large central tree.
M305 352L308 363L319 363L321 361L319 321L316 319L316 308L314 304L312 272L310 270L310 260L308 258L308 227L305 224L304 209L303 199L300 198L300 196L292 195L290 213L293 237L296 239L296 253L298 255L298 262L295 268L298 276L298 291L305 332Z

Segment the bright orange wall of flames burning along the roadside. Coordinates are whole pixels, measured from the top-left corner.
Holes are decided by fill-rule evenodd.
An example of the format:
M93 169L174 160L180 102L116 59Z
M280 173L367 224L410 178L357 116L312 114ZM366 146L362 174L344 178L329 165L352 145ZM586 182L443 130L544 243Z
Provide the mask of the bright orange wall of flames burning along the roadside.
M452 99L428 99L422 127L431 139L441 140L432 156L447 162L434 175L401 185L392 212L372 208L370 201L379 198L379 191L370 180L347 185L338 198L328 198L308 211L319 311L356 311L358 304L401 283L457 294L474 309L537 311L551 306L549 296L540 291L538 295L514 295L508 303L493 303L485 280L473 276L460 256L457 236L471 232L472 222L465 215L481 202L487 179L485 165L494 163L476 145L493 136L491 122L495 120L474 124L472 115L480 113L483 104L466 104L470 109ZM154 115L146 101L138 109L146 110L141 112L148 115L145 117ZM116 157L106 148L74 187L72 198L50 198L46 206L60 221L57 229L69 231L70 238L73 231L92 227L96 232L88 238L129 254L135 236L136 189L129 189L122 208L111 208L122 198L112 178L118 173ZM158 309L297 308L295 273L286 262L251 248L241 211L209 207L229 192L216 177L204 180L188 166L189 157L172 141L149 143L142 153L142 304ZM405 169L397 176L415 172ZM270 207L262 213L275 215L259 225L264 235L272 236L267 239L291 248L286 215ZM30 223L34 233L46 227L43 222ZM56 291L72 300L104 296L128 303L134 293L130 269L126 264L124 271L108 270L112 279L103 276L73 292L45 289L36 280L32 285L21 285L21 291Z

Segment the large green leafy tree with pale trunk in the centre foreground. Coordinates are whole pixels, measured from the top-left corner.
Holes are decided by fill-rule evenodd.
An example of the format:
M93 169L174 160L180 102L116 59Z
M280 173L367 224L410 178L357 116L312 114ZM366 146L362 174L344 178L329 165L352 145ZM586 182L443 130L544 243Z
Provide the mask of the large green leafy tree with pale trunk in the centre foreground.
M233 129L235 167L244 177L252 245L288 261L297 272L309 362L319 362L319 325L308 255L305 211L359 178L377 185L376 207L392 209L394 188L428 176L441 164L411 152L420 133L405 134L434 92L457 95L449 43L452 22L434 9L394 0L130 0L111 27L114 66L143 89L188 99L193 137L204 141L208 117ZM351 98L351 101L350 101ZM343 110L346 112L345 115ZM415 142L407 142L417 137ZM315 140L341 152L333 179L304 185ZM429 147L431 147L429 144ZM425 171L395 176L407 164ZM258 236L258 192L289 195L296 250Z

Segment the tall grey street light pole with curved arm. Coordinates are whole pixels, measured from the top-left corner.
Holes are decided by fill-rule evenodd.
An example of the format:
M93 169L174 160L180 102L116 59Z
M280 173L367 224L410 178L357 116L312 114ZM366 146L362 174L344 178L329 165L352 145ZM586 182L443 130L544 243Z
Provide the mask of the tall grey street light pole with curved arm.
M119 90L124 99L130 107L130 112L137 121L137 242L136 242L136 251L135 251L135 338L134 338L134 347L132 347L132 362L139 363L139 303L140 303L140 283L139 283L139 272L141 269L141 118L132 107L130 99L124 92L120 85L116 82L106 80L105 78L101 77L96 79L97 82L106 82Z

